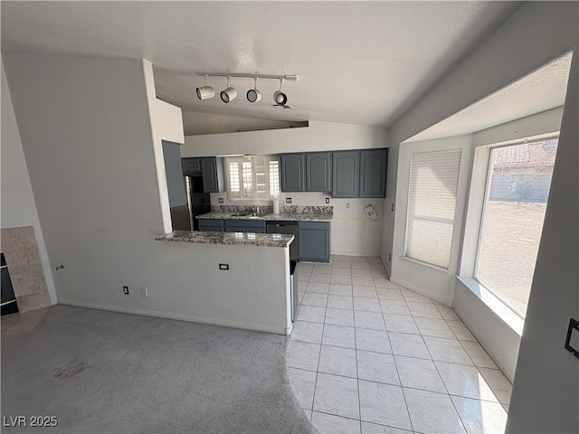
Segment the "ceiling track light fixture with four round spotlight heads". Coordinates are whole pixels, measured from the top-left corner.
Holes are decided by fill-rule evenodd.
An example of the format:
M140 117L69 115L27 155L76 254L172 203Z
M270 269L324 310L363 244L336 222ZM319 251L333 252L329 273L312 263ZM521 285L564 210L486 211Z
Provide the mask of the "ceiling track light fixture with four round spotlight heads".
M288 96L283 92L283 83L288 81L298 81L299 78L297 75L253 75L253 74L229 74L229 73L199 73L199 75L203 75L205 79L205 85L203 88L197 88L197 97L199 99L211 99L214 98L215 90L211 86L207 86L207 77L227 77L227 89L223 90L220 94L221 99L224 103L229 103L237 97L237 90L229 85L229 80L234 78L243 78L243 79L253 79L254 85L253 89L247 91L246 98L249 102L258 102L261 100L261 91L257 89L257 80L259 79L266 79L266 80L280 80L280 90L276 90L273 92L273 100L275 101L275 106L282 107L284 109L286 107L286 103L288 102Z

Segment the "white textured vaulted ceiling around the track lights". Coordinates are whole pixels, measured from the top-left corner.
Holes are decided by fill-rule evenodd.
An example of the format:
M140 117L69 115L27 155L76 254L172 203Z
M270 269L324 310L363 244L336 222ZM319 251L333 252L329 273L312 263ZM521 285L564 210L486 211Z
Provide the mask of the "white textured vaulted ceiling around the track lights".
M154 65L160 97L204 113L205 119L217 115L222 127L223 116L387 126L515 6L2 1L2 49L145 58ZM200 71L298 74L298 83L284 85L293 110L271 106L271 94L279 88L274 80L260 80L259 103L245 99L253 85L248 79L232 79L239 95L230 104L218 95L200 101L195 96L203 85L195 74ZM217 92L225 88L224 79L208 84Z

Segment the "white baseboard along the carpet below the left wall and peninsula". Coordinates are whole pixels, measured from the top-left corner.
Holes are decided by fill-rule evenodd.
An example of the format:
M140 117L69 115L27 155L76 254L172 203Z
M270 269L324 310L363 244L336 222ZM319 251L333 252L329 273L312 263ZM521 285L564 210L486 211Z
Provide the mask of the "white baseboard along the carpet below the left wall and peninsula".
M100 305L98 303L90 303L85 301L60 299L59 305L71 307L86 307L89 309L106 310L109 312L119 312L120 314L132 314L141 316L153 316L157 318L176 319L178 321L187 321L190 323L200 323L209 325L223 325L224 327L242 328L244 330L252 330L255 332L274 333L276 335L286 335L288 329L286 327L276 328L264 325L252 325L246 323L238 323L235 321L225 321L221 319L206 318L204 316L181 315L172 314L170 312L160 312L157 310L138 309L133 307L117 307L109 305Z

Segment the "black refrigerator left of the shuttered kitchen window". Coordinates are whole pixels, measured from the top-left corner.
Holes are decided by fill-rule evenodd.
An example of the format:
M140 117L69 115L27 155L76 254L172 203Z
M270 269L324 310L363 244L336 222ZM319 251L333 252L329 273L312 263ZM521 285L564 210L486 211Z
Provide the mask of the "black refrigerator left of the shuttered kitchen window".
M199 231L197 215L211 212L209 193L203 193L203 177L185 175L183 177L187 203L171 208L171 222L174 231Z

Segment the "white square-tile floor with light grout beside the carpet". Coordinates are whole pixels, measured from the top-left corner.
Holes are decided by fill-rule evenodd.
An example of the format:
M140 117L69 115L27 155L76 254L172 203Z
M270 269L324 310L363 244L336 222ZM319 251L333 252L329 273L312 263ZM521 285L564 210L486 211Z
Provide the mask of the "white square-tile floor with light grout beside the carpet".
M321 433L504 432L511 384L450 307L379 258L300 263L289 379Z

